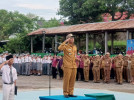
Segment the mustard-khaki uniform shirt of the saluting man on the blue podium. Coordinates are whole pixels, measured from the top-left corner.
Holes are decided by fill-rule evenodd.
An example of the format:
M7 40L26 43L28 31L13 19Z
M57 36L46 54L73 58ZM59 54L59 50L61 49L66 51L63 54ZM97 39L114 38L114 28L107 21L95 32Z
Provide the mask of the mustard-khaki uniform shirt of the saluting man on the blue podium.
M63 67L65 68L77 68L75 57L77 54L77 48L75 45L66 44L63 42L58 49L64 52Z

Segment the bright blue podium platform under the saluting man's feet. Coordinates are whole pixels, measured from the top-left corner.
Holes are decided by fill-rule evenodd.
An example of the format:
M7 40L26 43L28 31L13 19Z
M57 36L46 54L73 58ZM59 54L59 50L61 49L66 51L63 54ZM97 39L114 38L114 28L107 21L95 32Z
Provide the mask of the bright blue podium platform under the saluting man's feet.
M96 98L85 97L85 96L77 96L77 97L65 98L63 95L40 96L39 98L40 98L40 100L96 100Z

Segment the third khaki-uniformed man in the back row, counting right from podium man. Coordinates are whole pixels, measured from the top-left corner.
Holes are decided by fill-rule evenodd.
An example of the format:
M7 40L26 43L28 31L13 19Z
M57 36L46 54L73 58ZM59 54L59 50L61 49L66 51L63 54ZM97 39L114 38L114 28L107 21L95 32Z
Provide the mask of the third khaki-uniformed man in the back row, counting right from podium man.
M107 52L105 55L105 67L104 67L104 82L109 83L110 82L110 71L111 71L111 58L110 53Z

